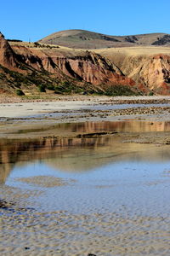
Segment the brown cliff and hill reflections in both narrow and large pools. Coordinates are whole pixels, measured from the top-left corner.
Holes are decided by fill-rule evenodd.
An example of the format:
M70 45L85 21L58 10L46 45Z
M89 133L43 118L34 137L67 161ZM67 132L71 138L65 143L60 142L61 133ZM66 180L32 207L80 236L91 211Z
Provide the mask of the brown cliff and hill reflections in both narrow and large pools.
M137 125L136 125L137 123ZM144 126L145 123L145 126ZM63 125L59 126L63 129ZM134 127L134 128L132 128ZM148 127L148 128L147 128ZM70 131L167 131L168 123L148 122L99 122L67 124ZM157 129L157 130L156 130ZM149 153L149 154L148 154ZM37 140L0 140L0 183L16 165L27 165L42 160L63 172L82 172L123 160L169 160L167 148L137 143L122 143L120 137L44 137Z

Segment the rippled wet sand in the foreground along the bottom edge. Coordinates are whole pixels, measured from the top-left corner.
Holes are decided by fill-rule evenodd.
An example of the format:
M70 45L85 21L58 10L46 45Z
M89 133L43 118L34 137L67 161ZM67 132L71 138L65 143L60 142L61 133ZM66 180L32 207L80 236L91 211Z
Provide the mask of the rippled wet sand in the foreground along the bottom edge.
M41 221L40 221L41 220ZM170 218L67 212L3 216L1 255L168 255ZM8 227L8 228L7 228ZM114 231L113 231L114 230Z

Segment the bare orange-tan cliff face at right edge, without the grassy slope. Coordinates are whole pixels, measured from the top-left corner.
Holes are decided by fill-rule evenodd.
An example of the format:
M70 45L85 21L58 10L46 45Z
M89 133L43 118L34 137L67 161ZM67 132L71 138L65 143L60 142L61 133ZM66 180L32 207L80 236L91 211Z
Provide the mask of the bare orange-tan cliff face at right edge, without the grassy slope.
M149 90L170 93L170 55L128 57L123 61L122 72Z

